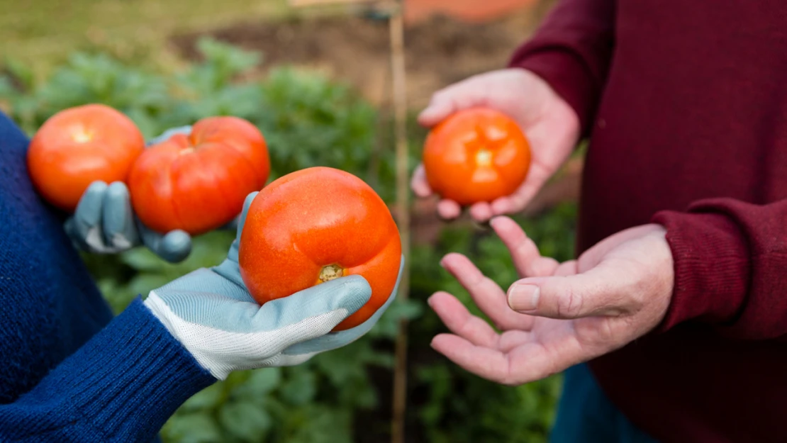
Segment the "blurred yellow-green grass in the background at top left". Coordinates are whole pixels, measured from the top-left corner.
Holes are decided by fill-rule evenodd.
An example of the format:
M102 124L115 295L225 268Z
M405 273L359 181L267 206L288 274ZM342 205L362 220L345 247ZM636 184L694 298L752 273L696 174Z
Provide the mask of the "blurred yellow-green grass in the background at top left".
M0 0L0 55L36 76L74 50L168 65L170 35L288 13L286 0Z

